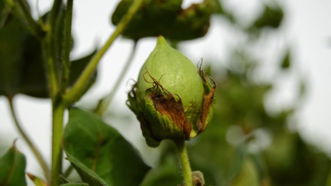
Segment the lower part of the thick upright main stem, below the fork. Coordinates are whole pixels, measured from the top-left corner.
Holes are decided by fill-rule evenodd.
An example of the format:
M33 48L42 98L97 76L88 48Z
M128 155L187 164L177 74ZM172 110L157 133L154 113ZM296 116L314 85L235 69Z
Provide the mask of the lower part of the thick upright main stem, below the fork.
M65 106L53 102L51 186L60 185L62 173L62 132Z

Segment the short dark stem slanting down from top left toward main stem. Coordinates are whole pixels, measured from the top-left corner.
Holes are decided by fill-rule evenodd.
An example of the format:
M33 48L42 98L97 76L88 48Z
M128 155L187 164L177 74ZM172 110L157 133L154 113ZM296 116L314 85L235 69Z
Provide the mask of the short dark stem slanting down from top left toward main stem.
M43 38L45 36L45 32L32 18L27 3L24 0L15 0L15 5L17 6L18 11L22 12L23 15L21 15L21 18L28 24L31 33L37 38Z

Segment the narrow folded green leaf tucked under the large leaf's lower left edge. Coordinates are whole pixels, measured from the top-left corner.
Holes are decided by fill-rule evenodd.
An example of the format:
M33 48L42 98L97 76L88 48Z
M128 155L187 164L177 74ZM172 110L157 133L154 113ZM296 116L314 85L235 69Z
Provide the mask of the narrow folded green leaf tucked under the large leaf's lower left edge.
M75 167L75 170L84 182L87 182L91 186L108 186L108 184L98 174L90 170L75 157L67 153L66 159Z

